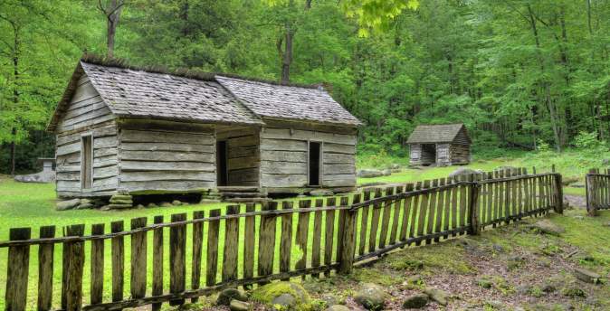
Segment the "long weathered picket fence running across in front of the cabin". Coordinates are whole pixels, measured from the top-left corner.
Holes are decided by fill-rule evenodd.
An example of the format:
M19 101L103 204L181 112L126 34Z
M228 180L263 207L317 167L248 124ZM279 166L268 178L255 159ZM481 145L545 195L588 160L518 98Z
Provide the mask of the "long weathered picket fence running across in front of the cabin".
M224 287L348 273L358 261L407 245L561 212L561 197L561 175L519 169L301 200L298 208L291 201L248 203L229 205L224 213L194 212L190 219L174 214L170 222L136 218L129 230L123 221L112 222L110 231L94 224L88 235L82 224L63 228L62 237L55 237L55 227L42 227L35 239L30 228L11 229L10 240L0 241L8 248L5 309L159 310L162 303L181 305ZM35 303L28 304L32 246L38 249L38 284L30 291ZM60 265L54 251L61 251ZM54 273L61 273L55 286Z

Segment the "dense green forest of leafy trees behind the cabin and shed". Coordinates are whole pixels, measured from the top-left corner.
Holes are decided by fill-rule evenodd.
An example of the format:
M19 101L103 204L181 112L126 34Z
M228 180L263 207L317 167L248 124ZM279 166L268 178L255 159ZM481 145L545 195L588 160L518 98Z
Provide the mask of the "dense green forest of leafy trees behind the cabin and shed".
M85 52L321 82L361 154L406 156L424 123L465 123L480 155L610 141L607 0L2 0L0 174L53 155Z

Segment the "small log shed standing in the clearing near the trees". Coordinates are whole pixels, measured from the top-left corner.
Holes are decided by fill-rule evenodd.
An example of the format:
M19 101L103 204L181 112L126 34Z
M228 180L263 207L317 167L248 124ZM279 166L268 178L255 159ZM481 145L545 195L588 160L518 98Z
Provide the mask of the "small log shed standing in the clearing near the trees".
M411 165L467 165L471 138L462 124L421 125L407 140Z

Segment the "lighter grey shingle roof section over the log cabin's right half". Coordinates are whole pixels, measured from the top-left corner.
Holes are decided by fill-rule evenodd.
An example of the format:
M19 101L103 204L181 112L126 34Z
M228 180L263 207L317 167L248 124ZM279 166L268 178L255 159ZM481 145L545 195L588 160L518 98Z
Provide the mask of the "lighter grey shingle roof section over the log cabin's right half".
M281 85L217 75L215 79L262 118L359 126L360 121L321 88Z

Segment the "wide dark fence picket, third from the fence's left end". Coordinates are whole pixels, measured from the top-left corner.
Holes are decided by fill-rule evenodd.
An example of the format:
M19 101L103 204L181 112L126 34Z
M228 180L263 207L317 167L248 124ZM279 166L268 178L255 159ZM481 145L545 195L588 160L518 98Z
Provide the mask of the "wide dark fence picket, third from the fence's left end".
M66 236L82 236L85 231L84 224L71 225L65 228ZM67 264L64 265L62 285L62 302L64 310L73 311L81 310L82 307L82 272L85 261L85 250L83 241L64 242L63 247L67 250L64 259Z

